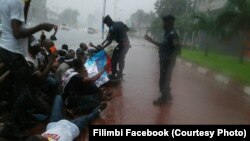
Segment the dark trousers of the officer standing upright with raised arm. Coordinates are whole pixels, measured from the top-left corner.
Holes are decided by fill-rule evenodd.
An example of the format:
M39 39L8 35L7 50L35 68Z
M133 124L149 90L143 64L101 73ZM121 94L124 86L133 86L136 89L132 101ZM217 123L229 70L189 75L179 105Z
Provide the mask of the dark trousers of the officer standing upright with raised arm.
M163 99L167 99L169 96L171 96L170 82L175 62L176 58L174 59L160 58L159 86L160 86L161 98Z

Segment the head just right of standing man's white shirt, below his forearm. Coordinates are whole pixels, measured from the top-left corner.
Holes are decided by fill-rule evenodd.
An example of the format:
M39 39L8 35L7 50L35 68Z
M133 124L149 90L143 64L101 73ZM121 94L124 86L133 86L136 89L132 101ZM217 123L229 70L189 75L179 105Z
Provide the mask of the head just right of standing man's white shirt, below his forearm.
M41 50L41 44L34 36L30 36L28 39L28 51L32 56L36 56Z

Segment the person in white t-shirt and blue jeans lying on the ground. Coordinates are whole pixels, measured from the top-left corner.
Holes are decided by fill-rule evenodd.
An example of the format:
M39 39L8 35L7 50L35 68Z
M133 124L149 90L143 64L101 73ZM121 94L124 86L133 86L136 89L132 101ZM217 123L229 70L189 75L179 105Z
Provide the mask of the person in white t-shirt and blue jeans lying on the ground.
M46 131L42 135L30 137L26 141L73 141L80 135L81 130L87 128L90 122L100 116L100 113L106 107L107 103L102 103L97 108L92 110L90 114L69 121L63 119L62 97L56 96L50 122L46 127Z

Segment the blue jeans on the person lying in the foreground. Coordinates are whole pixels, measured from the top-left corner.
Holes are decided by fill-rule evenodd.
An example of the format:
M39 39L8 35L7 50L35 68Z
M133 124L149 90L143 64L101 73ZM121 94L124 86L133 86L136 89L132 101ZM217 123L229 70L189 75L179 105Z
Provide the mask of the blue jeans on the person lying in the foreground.
M50 122L57 122L63 119L63 99L60 95L57 95L52 107L52 113L50 116ZM93 110L89 115L81 116L71 122L75 124L80 130L86 128L88 124L99 116L98 108Z

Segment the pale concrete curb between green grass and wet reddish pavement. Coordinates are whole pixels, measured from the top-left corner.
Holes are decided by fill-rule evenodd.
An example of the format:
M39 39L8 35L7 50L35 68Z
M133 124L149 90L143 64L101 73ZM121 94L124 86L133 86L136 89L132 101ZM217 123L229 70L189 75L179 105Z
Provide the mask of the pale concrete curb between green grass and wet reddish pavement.
M218 73L214 73L213 71L201 67L197 64L194 64L190 61L187 61L185 59L182 58L178 58L177 60L179 63L187 66L188 68L192 68L194 70L196 70L198 73L202 74L202 75L206 75L208 77L213 78L213 80L222 83L228 87L234 87L238 90L240 90L242 93L249 95L250 96L250 86L242 86L241 84L235 82L234 80L230 79L229 77L223 75L223 74L218 74Z

